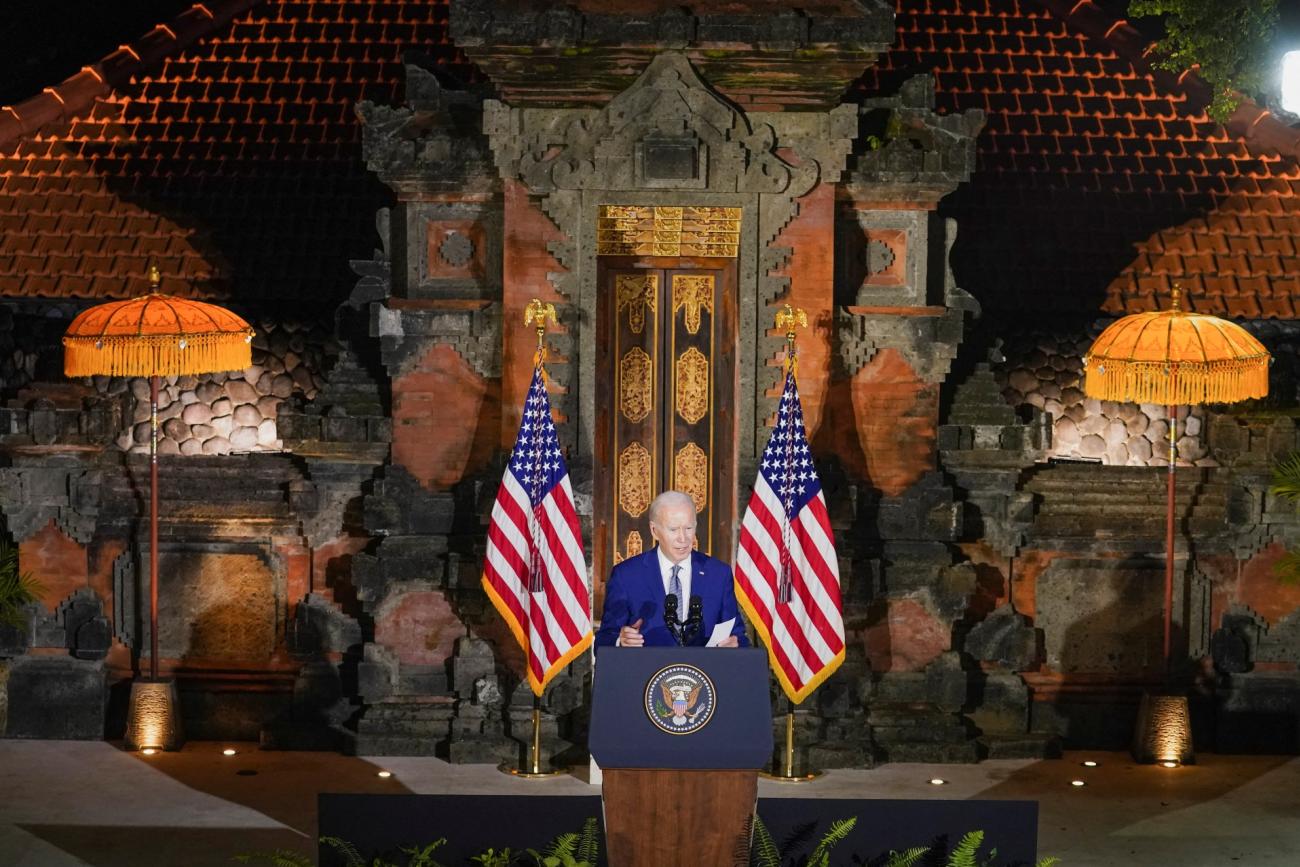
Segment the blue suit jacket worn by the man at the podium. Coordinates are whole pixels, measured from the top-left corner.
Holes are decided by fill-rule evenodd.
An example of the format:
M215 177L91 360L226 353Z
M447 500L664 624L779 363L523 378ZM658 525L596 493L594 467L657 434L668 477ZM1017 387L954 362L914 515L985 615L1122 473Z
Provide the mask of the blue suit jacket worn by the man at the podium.
M736 604L731 567L693 551L690 594L699 597L701 614L705 617L692 646L703 647L714 632L714 625L731 617L736 617L731 634L740 640L741 647L749 645L745 624L740 619L740 606ZM636 623L637 619L645 621L641 624L641 634L645 636L647 647L676 645L663 620L664 595L658 547L619 563L610 572L610 582L604 586L604 612L601 615L601 629L595 633L595 646L612 647L619 640L619 630ZM682 601L677 607L677 616L685 617L686 610L688 602Z

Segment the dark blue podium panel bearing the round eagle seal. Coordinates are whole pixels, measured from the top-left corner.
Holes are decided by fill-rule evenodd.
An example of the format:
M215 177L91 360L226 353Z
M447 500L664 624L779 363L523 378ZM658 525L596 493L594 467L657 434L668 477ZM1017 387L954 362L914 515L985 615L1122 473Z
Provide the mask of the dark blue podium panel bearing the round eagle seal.
M588 745L602 768L763 767L772 758L767 654L602 647Z

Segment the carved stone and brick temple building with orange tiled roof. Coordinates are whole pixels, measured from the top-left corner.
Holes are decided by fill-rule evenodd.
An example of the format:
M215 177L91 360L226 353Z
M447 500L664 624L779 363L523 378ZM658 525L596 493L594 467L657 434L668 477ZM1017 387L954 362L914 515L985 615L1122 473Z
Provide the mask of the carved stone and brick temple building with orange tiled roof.
M148 386L62 378L58 335L156 260L165 291L257 330L254 368L174 377L160 404L160 656L191 738L517 759L532 693L480 577L536 298L597 615L662 490L732 559L790 305L849 633L797 708L800 760L1127 744L1162 673L1169 422L1086 399L1080 355L1102 317L1161 307L1176 265L1196 309L1269 343L1296 406L1296 313L1249 299L1300 295L1300 260L1197 247L1291 195L1223 179L1292 177L1274 121L1210 125L1106 42L1131 29L1054 1L997 26L966 0L208 5L61 108L0 116L0 168L31 178L0 186L0 221L22 216L0 239L0 526L44 585L0 625L0 734L117 737L148 662ZM1093 57L1180 138L1115 131L1100 78L1061 83ZM73 84L107 91L78 108ZM1245 168L1147 152L1223 136ZM1231 291L1214 255L1242 257ZM1176 676L1218 749L1295 750L1268 720L1300 714L1300 594L1269 569L1300 520L1266 491L1296 430L1251 411L1175 422ZM590 682L585 655L547 689L547 753L585 755Z

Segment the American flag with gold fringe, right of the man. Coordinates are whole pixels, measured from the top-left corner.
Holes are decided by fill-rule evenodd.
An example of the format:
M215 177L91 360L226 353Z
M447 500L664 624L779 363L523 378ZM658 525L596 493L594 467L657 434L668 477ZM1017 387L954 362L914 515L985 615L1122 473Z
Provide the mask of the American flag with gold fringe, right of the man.
M736 590L785 694L802 702L844 662L840 567L794 370L740 528Z

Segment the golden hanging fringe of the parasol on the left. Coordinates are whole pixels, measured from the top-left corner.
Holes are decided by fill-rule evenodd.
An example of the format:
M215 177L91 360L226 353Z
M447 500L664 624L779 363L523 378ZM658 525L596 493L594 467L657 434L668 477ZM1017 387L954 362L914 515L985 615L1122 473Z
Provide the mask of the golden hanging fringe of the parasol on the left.
M252 331L64 337L64 373L87 376L181 376L243 370L252 365Z

